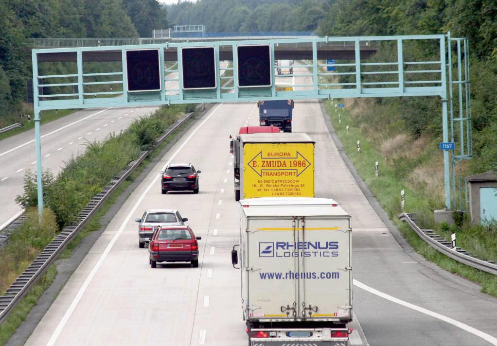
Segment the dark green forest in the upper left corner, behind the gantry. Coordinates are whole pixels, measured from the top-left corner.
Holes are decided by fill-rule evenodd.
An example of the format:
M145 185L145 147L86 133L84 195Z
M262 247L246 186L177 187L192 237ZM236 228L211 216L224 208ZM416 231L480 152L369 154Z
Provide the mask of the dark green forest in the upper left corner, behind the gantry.
M157 0L0 1L0 128L16 122L31 77L29 38L151 37L167 27Z

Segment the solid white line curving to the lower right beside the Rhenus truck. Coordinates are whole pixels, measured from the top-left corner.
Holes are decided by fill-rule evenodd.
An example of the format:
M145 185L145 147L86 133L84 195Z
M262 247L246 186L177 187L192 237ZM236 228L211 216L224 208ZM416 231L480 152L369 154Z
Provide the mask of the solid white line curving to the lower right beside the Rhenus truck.
M464 324L462 322L459 322L459 321L456 321L450 317L447 317L447 316L444 316L444 315L441 315L441 314L438 314L436 312L433 312L433 311L430 311L428 309L425 309L425 308L422 308L420 306L417 306L417 305L414 305L414 304L411 304L411 303L408 303L407 301L404 301L404 300L401 300L399 298L396 298L396 297L393 297L389 294L386 294L386 293L383 293L383 292L380 292L379 290L376 290L374 289L373 287L369 287L368 285L365 285L364 283L362 282L359 282L357 281L356 279L353 280L354 282L354 285L359 287L359 288L362 288L364 289L365 291L368 291L370 293L373 293L379 297L382 297L384 299L387 299L387 300L390 300L394 303L397 303L397 304L400 304L400 305L403 305L407 308L410 308L410 309L413 309L413 310L416 310L420 313L423 313L425 315L428 315L428 316L431 316L431 317L434 317L434 318L437 318L439 320L442 320L444 322L447 322L453 326L456 326L458 328L461 328L462 330L465 330L466 332L469 332L473 335L476 335L477 337L480 337L482 338L483 340L485 341L488 341L489 343L491 343L492 345L496 345L497 346L497 338L487 334L487 333L484 333L482 331L479 331L478 329L475 329L473 327L470 327L468 326L467 324Z

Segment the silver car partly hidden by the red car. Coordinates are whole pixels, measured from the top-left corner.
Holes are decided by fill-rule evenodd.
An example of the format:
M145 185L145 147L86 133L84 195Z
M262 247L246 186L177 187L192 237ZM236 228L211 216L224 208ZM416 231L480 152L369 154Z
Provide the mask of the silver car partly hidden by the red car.
M141 218L135 219L138 225L138 245L144 248L150 242L154 229L157 226L184 226L188 221L186 217L181 217L176 209L149 209L145 210Z

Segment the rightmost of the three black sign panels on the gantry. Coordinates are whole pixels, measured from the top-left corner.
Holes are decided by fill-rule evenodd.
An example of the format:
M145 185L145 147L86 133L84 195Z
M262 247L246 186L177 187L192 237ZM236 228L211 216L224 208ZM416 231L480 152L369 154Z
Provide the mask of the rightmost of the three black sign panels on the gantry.
M271 86L269 45L237 46L238 86Z

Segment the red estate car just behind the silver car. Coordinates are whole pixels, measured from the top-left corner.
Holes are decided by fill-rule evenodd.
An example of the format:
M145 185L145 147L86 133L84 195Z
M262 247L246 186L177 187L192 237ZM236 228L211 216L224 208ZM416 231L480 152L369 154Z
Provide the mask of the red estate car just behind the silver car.
M190 262L198 267L198 243L189 226L164 226L152 235L149 244L150 266L157 262Z

